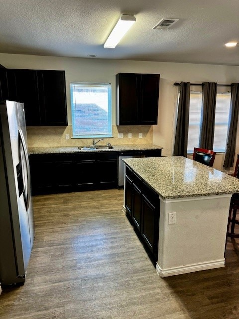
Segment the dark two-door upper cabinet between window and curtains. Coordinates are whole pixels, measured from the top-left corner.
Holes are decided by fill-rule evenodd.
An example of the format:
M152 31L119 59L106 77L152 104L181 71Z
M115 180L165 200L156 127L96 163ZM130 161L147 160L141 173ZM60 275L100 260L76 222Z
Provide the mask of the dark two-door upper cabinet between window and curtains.
M157 124L159 74L116 75L116 124Z

